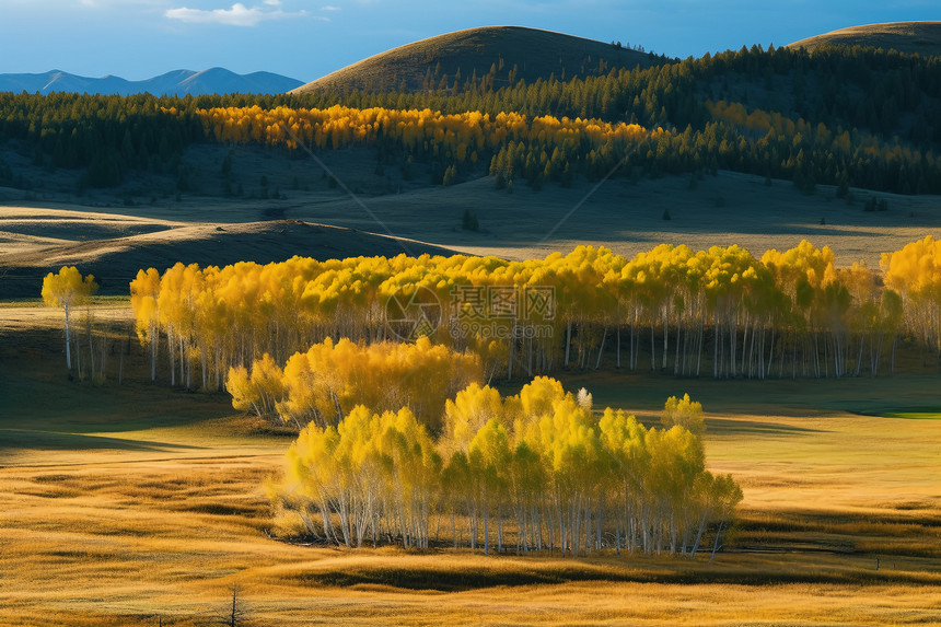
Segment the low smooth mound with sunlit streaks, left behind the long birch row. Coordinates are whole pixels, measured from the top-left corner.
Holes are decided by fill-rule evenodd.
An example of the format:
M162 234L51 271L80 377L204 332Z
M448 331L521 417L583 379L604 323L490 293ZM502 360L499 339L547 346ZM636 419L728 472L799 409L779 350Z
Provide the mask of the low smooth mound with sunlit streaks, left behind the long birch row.
M372 225L375 228L375 224ZM452 255L455 251L407 237L300 220L181 222L86 208L0 208L0 300L36 297L43 276L80 265L101 293L127 293L140 268L163 271L176 262L201 266L294 255L323 259L359 255Z

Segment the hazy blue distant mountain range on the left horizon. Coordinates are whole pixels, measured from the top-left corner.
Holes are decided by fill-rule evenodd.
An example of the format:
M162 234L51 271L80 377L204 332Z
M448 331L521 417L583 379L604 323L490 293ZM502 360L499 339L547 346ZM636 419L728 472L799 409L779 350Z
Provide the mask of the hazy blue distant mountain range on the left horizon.
M107 76L100 79L80 77L59 70L43 74L0 74L0 92L28 92L48 94L74 92L103 95L153 95L186 94L280 94L303 85L303 81L274 74L252 72L236 74L224 68L211 68L201 72L174 70L144 81L128 81Z

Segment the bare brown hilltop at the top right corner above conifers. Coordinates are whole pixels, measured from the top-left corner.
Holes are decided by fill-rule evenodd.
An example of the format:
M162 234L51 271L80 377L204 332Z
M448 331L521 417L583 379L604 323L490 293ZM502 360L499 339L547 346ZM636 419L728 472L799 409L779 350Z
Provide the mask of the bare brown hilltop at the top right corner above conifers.
M884 48L910 55L937 57L941 56L941 22L894 22L850 26L808 37L788 47L814 51L829 46Z

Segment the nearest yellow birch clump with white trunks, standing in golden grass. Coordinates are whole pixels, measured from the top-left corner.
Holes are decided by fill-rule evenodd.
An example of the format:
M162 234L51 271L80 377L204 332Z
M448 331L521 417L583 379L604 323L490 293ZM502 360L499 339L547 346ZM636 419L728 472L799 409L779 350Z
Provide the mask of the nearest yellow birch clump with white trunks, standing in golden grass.
M701 419L685 396L667 400L664 420L684 411ZM507 397L462 390L437 438L407 408L358 405L335 427L311 423L270 496L307 534L348 547L695 557L707 535L720 544L742 491L706 469L700 436L685 427L596 413L584 388L536 378Z

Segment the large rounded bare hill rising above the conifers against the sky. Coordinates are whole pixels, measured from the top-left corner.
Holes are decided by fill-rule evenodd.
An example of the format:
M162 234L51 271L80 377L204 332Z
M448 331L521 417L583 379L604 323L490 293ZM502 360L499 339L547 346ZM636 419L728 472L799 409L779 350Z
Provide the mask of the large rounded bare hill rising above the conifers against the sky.
M458 77L490 86L537 79L605 74L612 68L649 67L665 59L617 45L520 26L486 26L421 39L347 66L294 90L426 91Z

